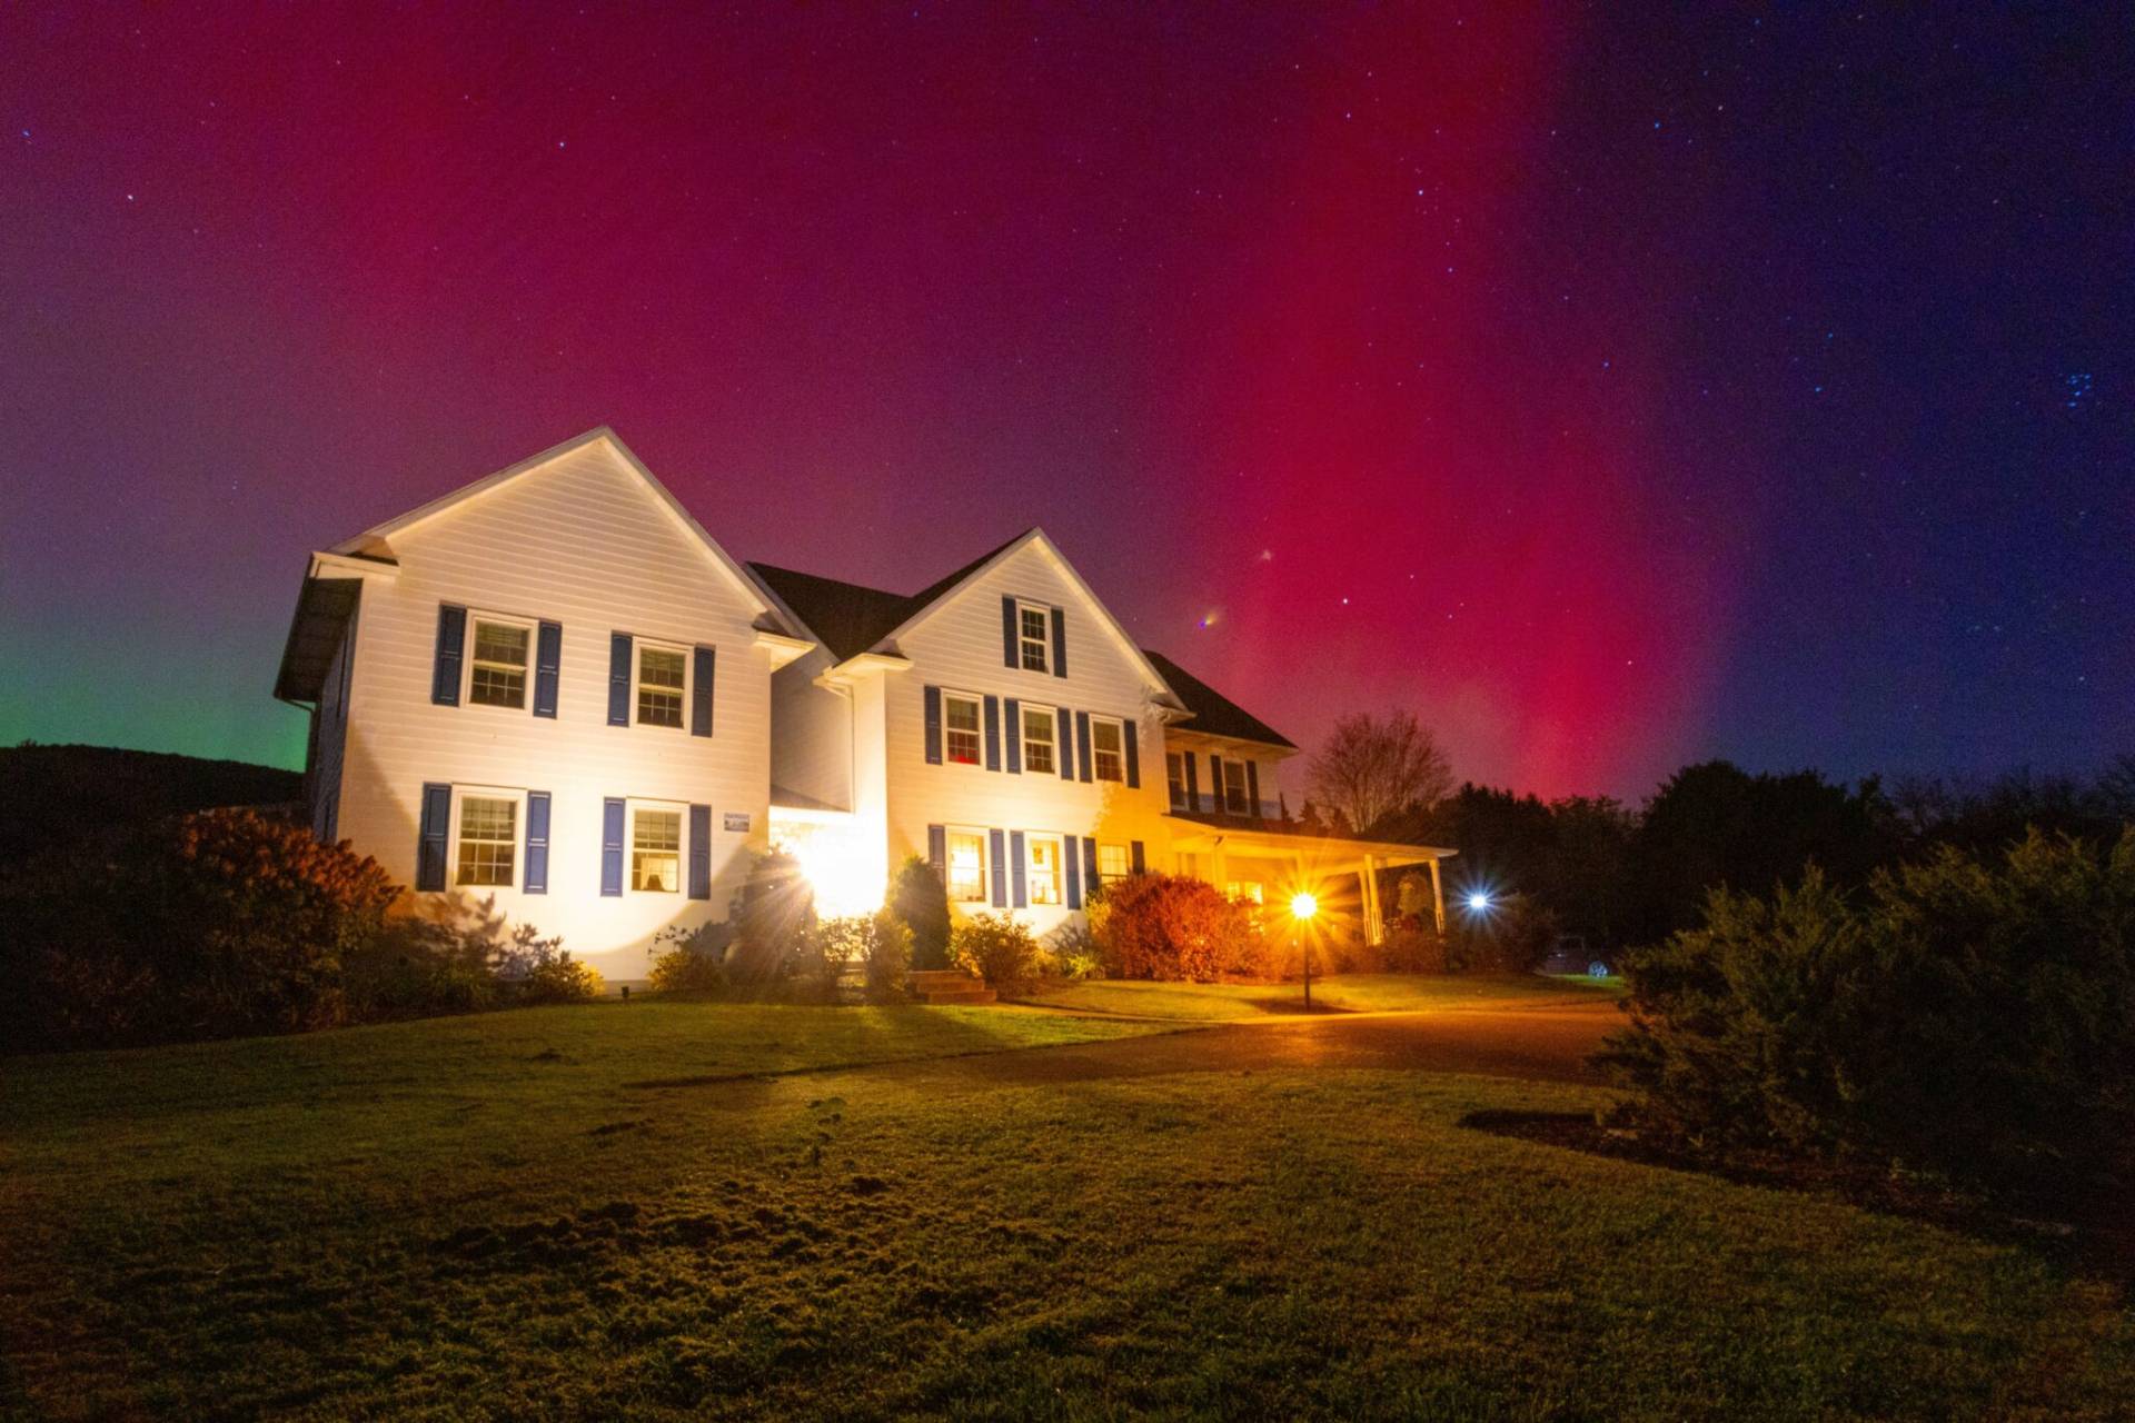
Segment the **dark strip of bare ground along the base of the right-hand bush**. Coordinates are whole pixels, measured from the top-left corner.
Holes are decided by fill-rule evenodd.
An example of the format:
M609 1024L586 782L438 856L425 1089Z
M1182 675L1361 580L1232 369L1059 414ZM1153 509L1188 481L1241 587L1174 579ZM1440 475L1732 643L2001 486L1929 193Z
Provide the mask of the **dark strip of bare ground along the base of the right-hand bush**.
M1883 1216L1902 1216L1998 1246L2015 1246L2060 1269L2103 1278L2122 1291L2135 1289L2135 1225L2122 1210L2103 1205L2075 1220L2022 1216L1996 1210L1977 1197L1934 1188L1919 1180L1847 1167L1783 1152L1712 1156L1640 1137L1635 1131L1603 1126L1591 1112L1469 1112L1458 1120L1469 1131L1512 1137L1588 1156L1612 1156L1667 1171L1717 1176L1738 1186L1764 1186L1843 1199Z

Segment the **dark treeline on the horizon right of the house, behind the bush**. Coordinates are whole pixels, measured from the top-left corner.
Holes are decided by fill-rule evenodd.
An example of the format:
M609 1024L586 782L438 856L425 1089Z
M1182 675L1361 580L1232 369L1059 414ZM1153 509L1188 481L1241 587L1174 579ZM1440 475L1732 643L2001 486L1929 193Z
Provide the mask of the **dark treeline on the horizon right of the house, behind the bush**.
M1539 800L1462 785L1430 809L1373 826L1373 838L1450 845L1454 890L1527 896L1593 947L1659 943L1699 922L1706 892L1770 894L1815 864L1840 885L1917 860L1939 845L1998 851L2026 828L2109 838L2135 821L2135 755L2094 779L2028 770L1992 781L1821 772L1746 772L1702 762L1670 777L1642 806L1612 798Z

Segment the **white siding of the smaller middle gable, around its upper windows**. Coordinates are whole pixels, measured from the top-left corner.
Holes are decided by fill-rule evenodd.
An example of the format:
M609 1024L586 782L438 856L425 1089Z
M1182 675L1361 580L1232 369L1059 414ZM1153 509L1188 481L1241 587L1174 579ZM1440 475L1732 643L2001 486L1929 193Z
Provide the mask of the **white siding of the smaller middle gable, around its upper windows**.
M1068 676L1006 666L1001 597L1027 597L1068 610ZM910 672L877 678L884 689L888 858L927 853L927 826L1095 836L1144 843L1149 868L1170 868L1164 821L1161 728L1149 715L1151 687L1138 659L1104 627L1100 614L1053 561L1031 544L974 580L946 608L901 638ZM1140 789L1057 774L1008 774L982 766L929 766L924 687L1018 698L1025 704L1121 717L1138 740ZM1006 717L1006 708L1003 708ZM1006 753L1006 728L1003 728ZM1006 755L1003 755L1006 762ZM865 764L865 762L863 762ZM1065 909L1027 909L1040 934L1063 924Z

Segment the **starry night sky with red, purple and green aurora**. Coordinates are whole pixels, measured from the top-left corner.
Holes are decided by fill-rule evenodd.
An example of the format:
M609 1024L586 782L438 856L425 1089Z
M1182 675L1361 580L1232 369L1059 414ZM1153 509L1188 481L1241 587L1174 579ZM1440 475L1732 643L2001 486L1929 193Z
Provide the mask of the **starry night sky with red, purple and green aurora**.
M0 11L0 742L301 764L305 553L606 422L1302 745L2135 749L2122 6L235 9Z

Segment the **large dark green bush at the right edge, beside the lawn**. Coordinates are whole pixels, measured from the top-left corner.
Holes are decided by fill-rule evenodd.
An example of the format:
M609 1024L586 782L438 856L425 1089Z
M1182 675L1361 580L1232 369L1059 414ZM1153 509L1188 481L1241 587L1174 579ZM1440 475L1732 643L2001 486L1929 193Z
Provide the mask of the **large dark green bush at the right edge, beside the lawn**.
M1943 849L1855 898L1714 892L1627 975L1601 1060L1650 1131L2009 1197L2135 1184L2135 830Z

